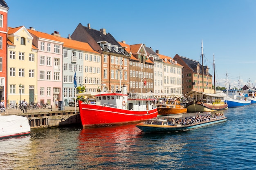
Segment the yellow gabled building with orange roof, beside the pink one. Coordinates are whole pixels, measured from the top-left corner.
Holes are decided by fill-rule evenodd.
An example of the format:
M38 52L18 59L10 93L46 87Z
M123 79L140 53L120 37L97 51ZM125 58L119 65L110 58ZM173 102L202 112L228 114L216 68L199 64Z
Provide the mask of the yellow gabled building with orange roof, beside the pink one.
M25 26L8 28L7 104L37 101L37 51Z

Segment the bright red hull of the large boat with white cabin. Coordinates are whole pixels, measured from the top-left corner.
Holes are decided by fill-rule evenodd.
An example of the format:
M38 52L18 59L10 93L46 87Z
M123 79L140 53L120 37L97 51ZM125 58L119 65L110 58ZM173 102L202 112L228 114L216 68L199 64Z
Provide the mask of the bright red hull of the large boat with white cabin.
M134 111L95 104L85 104L79 101L79 109L83 127L128 124L157 117L157 108Z

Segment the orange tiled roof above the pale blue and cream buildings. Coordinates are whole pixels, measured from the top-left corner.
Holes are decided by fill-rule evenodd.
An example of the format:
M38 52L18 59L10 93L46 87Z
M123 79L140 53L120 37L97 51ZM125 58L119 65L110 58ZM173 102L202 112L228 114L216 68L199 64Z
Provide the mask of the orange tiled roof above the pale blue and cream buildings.
M69 48L69 49L76 49L76 50L81 50L81 51L88 51L91 53L98 53L97 51L94 51L92 47L87 43L87 42L81 42L81 41L76 41L76 40L71 40L68 38L62 38L62 37L55 37L57 40L63 42L63 47Z

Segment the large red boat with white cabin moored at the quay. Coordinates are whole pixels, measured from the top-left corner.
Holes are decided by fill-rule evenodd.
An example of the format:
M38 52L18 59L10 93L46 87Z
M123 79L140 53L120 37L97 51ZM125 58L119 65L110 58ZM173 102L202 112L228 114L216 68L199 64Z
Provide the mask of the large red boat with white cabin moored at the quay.
M120 92L100 92L95 95L95 101L95 104L88 104L79 100L83 127L128 124L157 117L154 97L127 93L126 86Z

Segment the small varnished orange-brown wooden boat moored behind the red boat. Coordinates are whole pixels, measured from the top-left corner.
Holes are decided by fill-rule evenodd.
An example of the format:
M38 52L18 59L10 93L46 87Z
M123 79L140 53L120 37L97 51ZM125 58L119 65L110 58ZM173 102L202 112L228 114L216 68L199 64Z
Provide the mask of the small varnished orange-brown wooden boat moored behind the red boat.
M167 104L159 104L157 105L158 115L174 115L174 114L182 114L186 113L186 106L180 104L180 101L177 100L169 100Z

